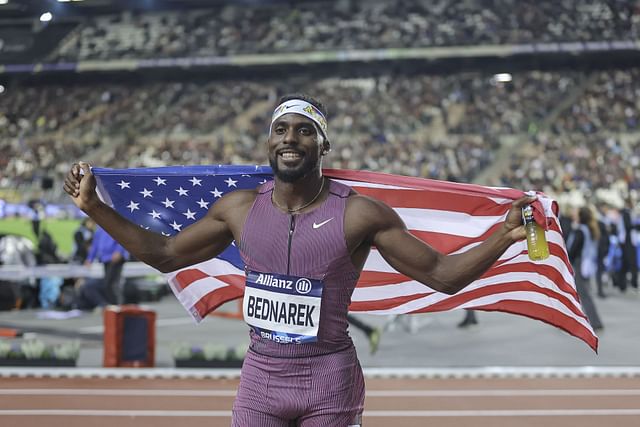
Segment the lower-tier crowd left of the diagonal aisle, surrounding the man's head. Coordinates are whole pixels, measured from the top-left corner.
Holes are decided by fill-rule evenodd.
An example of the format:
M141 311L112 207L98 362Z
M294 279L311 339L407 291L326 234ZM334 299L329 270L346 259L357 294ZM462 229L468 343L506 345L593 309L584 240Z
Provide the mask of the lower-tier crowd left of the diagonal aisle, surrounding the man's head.
M482 73L386 73L286 87L249 80L9 87L0 95L0 135L8 142L0 179L7 186L43 171L62 175L96 150L95 161L112 167L264 164L265 150L256 146L277 97L303 91L330 109L327 166L471 181L502 135L542 120L581 78L526 72L502 84Z

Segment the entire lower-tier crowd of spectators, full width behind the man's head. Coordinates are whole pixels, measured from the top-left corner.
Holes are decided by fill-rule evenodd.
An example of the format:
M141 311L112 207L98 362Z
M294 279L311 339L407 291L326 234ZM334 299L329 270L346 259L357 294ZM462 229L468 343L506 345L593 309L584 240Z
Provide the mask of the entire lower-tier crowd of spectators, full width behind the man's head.
M308 76L286 86L9 86L0 94L0 184L62 177L80 158L106 167L265 164L260 144L277 97L302 91L330 110L327 167L471 182L500 166L492 163L501 141L515 137L520 145L490 184L551 193L640 189L638 77L637 69L531 71L500 83L483 73L382 72Z

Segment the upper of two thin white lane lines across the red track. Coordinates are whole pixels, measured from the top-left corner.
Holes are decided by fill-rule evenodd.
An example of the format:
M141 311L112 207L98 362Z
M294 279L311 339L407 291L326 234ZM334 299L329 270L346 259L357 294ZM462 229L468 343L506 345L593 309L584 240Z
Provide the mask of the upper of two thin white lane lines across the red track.
M500 396L640 396L640 389L475 389L475 390L369 390L367 397L500 397ZM0 389L7 396L175 396L234 397L233 389L93 389L18 388Z

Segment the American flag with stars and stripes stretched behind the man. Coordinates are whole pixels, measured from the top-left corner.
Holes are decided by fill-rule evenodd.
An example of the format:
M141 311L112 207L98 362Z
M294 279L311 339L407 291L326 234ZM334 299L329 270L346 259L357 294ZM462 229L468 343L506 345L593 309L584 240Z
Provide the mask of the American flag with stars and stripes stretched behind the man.
M93 168L103 200L143 228L174 235L202 218L226 193L273 179L266 166L171 166ZM418 238L451 254L480 244L524 193L383 173L326 169L325 176L395 209ZM372 249L353 293L350 310L370 314L427 313L453 309L502 311L556 326L597 350L598 337L584 315L557 219L557 204L544 194L534 202L546 229L550 256L532 261L526 242L513 244L478 280L455 295L436 292L404 276ZM165 274L196 321L241 298L244 265L235 244L220 256Z

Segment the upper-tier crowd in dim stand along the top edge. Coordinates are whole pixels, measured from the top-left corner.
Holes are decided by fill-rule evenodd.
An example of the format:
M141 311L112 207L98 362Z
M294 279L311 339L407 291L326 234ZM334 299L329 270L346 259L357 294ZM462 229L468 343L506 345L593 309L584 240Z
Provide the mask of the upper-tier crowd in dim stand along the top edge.
M50 59L630 41L639 35L636 1L318 0L87 17Z

